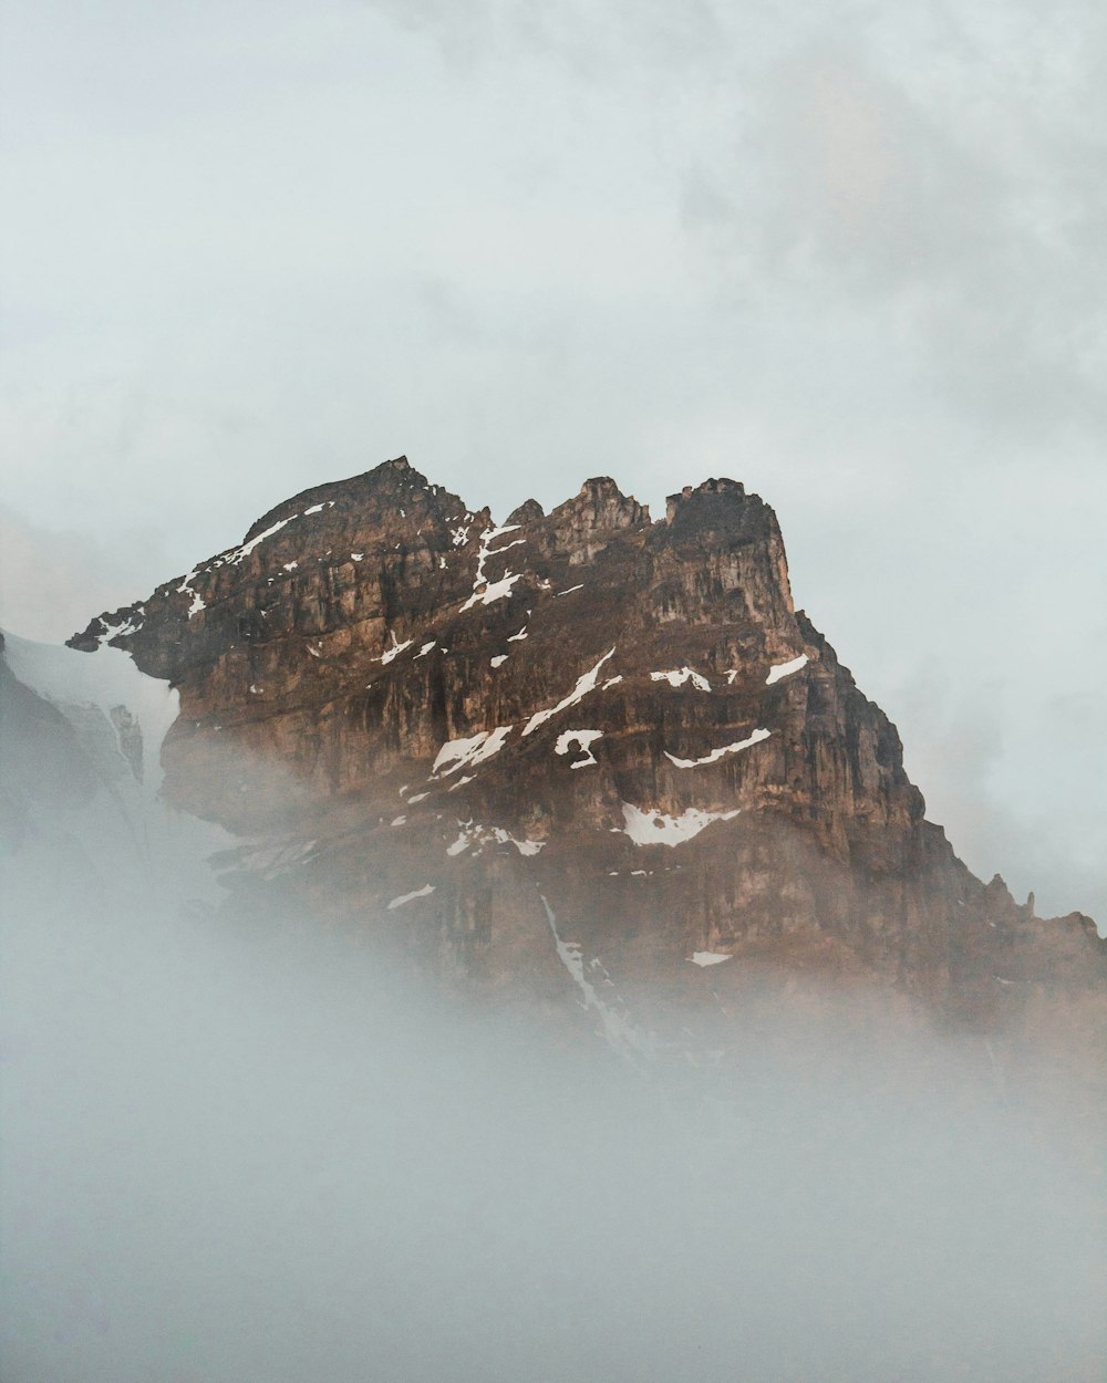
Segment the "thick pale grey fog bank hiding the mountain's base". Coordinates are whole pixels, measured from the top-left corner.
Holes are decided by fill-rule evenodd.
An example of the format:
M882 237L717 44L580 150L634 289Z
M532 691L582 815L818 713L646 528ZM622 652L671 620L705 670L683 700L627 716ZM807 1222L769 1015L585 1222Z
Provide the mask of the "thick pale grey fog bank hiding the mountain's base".
M12 1383L1100 1376L1095 1166L971 1039L632 1069L42 835L3 888Z

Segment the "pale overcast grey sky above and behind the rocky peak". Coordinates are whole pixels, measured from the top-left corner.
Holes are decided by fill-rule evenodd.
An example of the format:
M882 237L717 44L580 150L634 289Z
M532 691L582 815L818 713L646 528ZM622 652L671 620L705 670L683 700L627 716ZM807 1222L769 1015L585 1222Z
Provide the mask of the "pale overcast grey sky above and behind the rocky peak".
M729 474L985 878L1107 922L1100 0L0 0L0 618L405 452Z

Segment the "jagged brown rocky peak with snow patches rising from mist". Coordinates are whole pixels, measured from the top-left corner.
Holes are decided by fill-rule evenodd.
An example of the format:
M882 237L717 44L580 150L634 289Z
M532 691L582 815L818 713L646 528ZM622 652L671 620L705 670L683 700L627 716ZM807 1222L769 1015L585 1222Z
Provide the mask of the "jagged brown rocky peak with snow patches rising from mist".
M924 820L733 481L495 524L400 458L71 640L105 642L180 690L165 791L245 838L241 877L444 975L570 981L616 1028L646 990L724 1008L754 961L984 1023L1103 990L1090 920L1035 918Z

